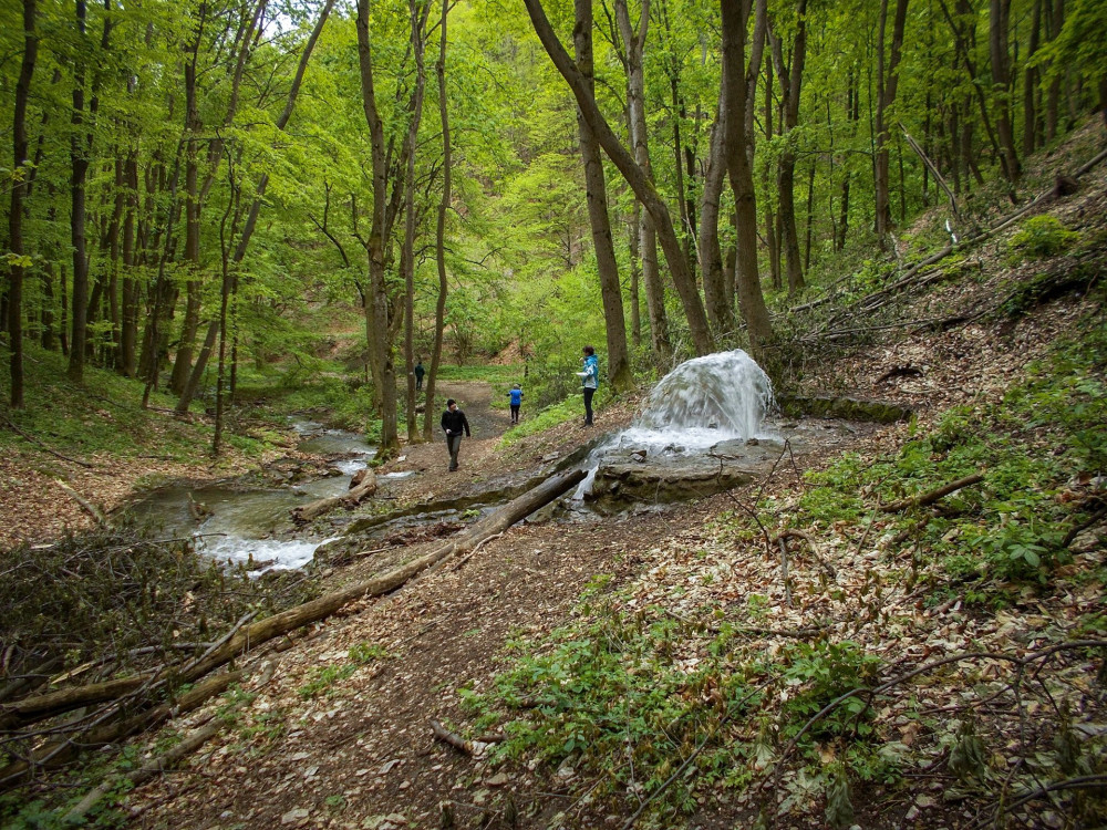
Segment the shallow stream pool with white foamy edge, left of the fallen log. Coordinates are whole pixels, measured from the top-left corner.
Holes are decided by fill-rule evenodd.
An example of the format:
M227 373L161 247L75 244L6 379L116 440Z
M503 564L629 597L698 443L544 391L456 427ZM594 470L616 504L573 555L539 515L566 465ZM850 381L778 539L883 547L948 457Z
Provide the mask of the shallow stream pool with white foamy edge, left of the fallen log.
M276 488L228 485L173 486L152 494L132 512L165 531L196 538L197 549L220 561L247 562L258 572L300 568L330 539L281 538L291 527L289 511L314 499L338 496L364 469L375 449L364 438L313 422L294 422L298 448L329 456L338 475ZM201 518L197 519L196 516Z

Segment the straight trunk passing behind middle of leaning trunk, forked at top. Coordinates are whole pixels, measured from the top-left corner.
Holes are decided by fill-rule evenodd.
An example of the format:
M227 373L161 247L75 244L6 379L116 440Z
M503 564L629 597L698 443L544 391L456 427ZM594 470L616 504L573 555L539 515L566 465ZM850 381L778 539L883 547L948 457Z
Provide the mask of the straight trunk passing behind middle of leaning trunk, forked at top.
M615 0L615 20L627 52L627 117L630 126L631 146L634 160L653 180L650 162L649 134L645 124L645 66L643 52L650 21L650 0L642 4L639 30L630 21L627 0ZM578 23L579 25L579 23ZM581 115L581 120L583 116ZM658 266L658 235L654 218L649 210L641 215L639 226L639 253L642 257L642 279L645 282L645 305L650 313L650 338L653 345L654 363L661 367L672 360L673 346L669 336L669 320L665 315L665 288Z

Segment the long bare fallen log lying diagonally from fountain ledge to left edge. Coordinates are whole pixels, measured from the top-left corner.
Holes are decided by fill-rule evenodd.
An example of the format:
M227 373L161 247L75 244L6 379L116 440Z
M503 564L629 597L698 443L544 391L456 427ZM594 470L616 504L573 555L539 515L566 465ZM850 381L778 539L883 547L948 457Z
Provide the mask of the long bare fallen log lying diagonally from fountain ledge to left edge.
M324 620L354 600L365 596L380 596L394 591L435 563L457 553L467 553L470 550L475 550L486 539L504 532L507 528L521 521L535 510L563 496L583 480L583 478L584 470L582 469L570 470L548 478L537 487L475 522L445 544L435 548L422 557L413 559L379 577L355 582L310 602L296 605L279 614L273 614L265 620L240 627L234 636L227 637L217 647L209 649L199 660L185 666L184 670L176 672L174 676L179 683L194 683L219 666L229 663L242 652L256 649L262 643L283 636L296 629ZM62 689L51 695L39 695L34 698L20 701L18 704L0 708L0 712L6 712L18 706L20 708L12 713L12 715L20 717L22 723L41 720L44 717L60 715L93 702L114 699L114 697L137 689L144 683L149 682L149 675L124 677L92 686ZM113 688L112 684L116 684L114 689L117 694L105 696L108 689ZM17 720L17 723L20 723L20 720ZM85 741L82 740L81 743ZM0 784L2 784L4 778L4 774L0 771Z

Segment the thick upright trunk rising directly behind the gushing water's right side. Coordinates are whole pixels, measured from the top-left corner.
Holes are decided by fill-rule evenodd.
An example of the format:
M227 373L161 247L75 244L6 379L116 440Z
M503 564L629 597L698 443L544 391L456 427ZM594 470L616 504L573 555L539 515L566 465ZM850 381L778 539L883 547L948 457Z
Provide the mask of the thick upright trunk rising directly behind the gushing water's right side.
M765 2L758 0L758 14L765 14ZM734 191L737 215L737 277L735 288L738 307L749 334L755 357L764 356L773 340L773 326L757 274L757 197L753 169L747 155L748 137L744 128L748 105L746 77L746 21L736 3L722 3L723 24L723 90L726 124L726 159Z

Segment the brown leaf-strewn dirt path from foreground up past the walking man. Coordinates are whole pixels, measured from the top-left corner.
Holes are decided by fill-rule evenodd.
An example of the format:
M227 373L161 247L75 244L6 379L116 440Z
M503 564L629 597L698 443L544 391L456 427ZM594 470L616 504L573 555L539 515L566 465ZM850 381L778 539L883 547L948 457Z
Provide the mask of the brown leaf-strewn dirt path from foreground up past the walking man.
M532 466L551 447L566 452L594 437L563 425L497 453L510 416L492 407L492 386L454 382L439 392L441 402L458 401L473 429L462 445L462 469L446 475L444 442L407 445L385 471L416 475L394 479L393 498L462 494ZM609 423L624 419L615 412ZM187 769L136 793L136 826L430 828L441 826L446 803L455 827L479 827L486 808L507 792L538 821L563 807L563 797L536 795L541 788L526 768L493 770L435 741L430 719L467 723L472 715L458 689L489 687L509 637L559 624L590 579L632 568L635 551L669 538L686 519L652 513L517 526L464 564L447 563L389 598L353 605L296 647L270 655L276 676L239 725ZM361 562L345 575L383 570L395 556ZM358 665L351 650L383 656ZM519 826L530 820L520 818Z

